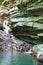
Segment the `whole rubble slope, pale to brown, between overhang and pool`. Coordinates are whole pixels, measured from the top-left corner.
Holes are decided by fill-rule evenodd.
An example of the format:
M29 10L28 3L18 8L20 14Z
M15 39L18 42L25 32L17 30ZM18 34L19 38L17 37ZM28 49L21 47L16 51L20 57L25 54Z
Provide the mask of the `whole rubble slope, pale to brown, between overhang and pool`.
M12 48L22 52L28 52L32 48L32 45L30 43L28 44L24 41L21 41L13 37L13 35L6 34L1 30L0 30L0 44L1 44L0 49Z

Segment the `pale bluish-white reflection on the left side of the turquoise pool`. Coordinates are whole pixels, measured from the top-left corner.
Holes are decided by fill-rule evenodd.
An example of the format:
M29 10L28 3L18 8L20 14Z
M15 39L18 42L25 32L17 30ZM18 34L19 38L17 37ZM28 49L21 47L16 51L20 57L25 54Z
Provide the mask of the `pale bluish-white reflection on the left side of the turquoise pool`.
M10 57L11 57L11 53L10 52L3 52L2 53L2 60L1 60L1 64L0 65L8 65L8 63L10 62Z

